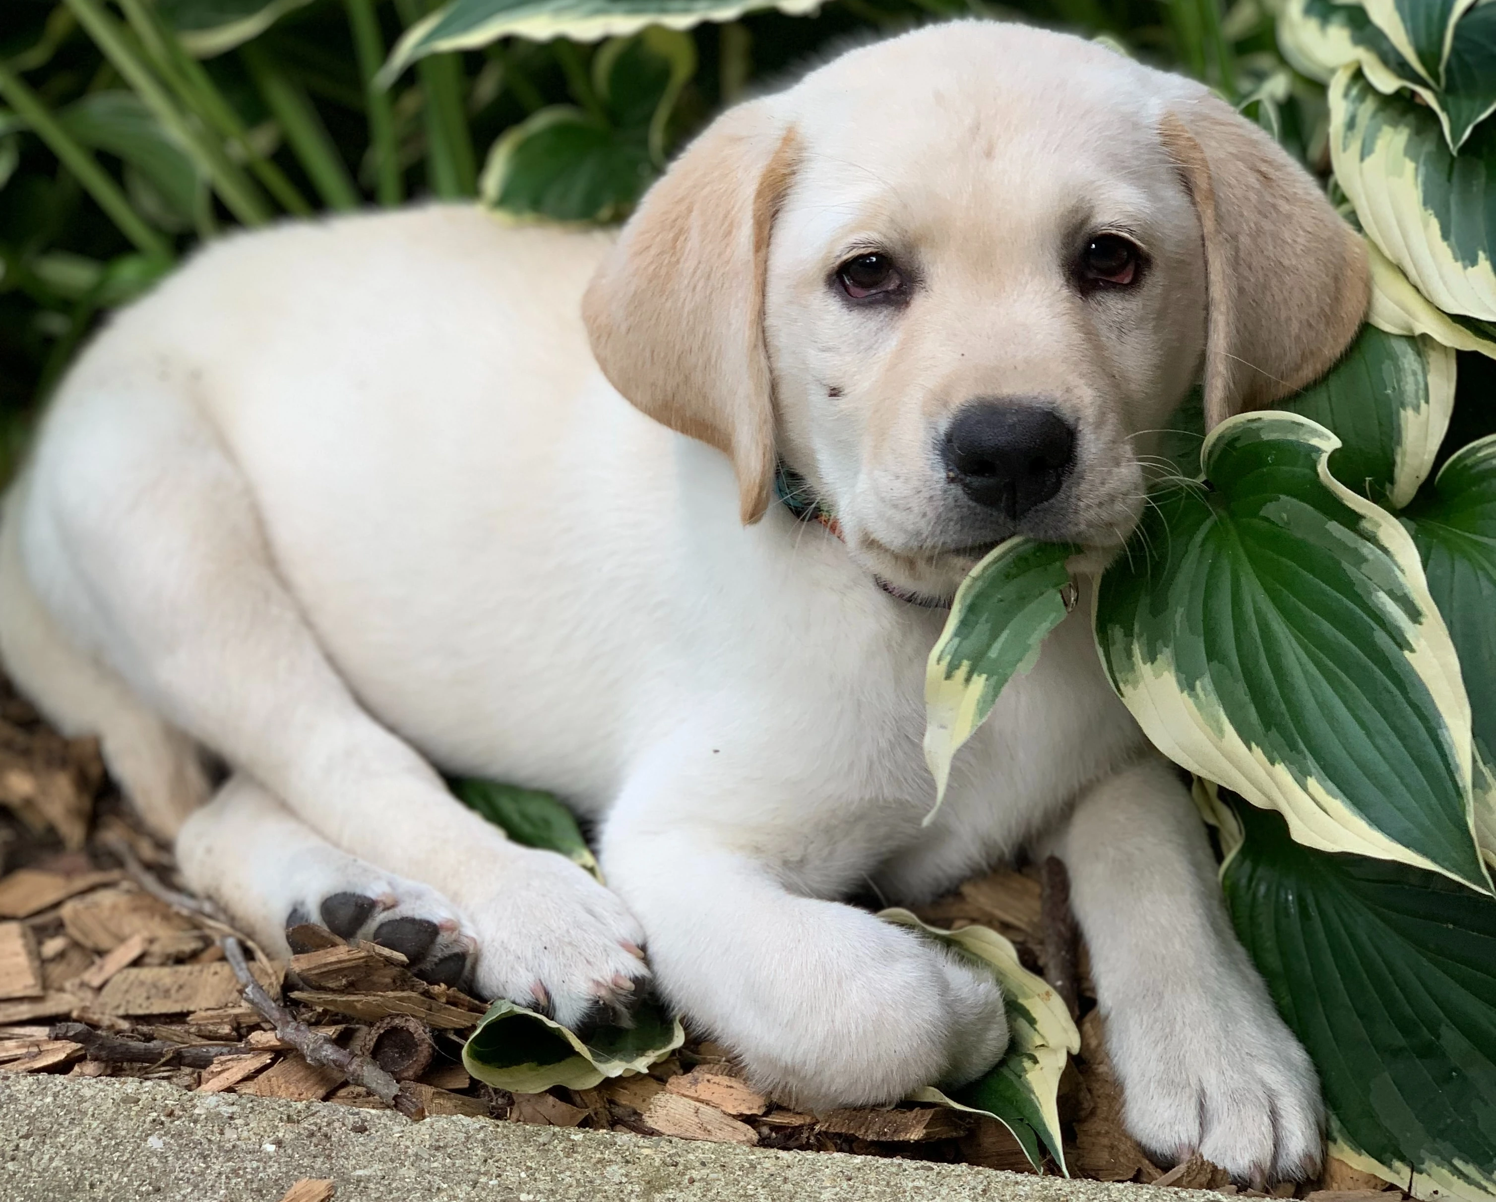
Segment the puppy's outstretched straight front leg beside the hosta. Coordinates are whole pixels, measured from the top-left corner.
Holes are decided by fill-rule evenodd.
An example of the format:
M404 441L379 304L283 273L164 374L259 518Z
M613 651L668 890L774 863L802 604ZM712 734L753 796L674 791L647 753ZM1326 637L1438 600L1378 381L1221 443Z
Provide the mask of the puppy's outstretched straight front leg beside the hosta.
M1091 789L1053 851L1091 948L1132 1135L1233 1177L1319 1160L1319 1082L1237 942L1189 794L1162 759Z

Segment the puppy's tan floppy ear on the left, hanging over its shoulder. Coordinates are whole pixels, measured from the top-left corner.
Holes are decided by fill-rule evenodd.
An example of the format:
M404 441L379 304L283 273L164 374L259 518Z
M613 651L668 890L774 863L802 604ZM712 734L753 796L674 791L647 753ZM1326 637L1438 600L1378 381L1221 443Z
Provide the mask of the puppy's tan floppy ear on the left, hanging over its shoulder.
M797 157L766 102L729 111L645 194L582 300L613 387L733 460L745 523L773 486L764 266Z

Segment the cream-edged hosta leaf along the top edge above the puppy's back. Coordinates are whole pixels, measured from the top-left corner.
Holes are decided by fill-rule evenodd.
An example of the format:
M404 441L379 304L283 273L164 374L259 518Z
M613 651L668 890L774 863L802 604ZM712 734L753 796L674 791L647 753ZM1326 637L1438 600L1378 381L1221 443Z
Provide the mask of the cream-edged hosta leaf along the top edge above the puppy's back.
M387 87L417 58L455 49L477 49L500 37L549 42L597 42L625 37L646 25L688 30L703 21L736 21L745 12L778 9L814 12L823 0L452 0L411 25L380 70Z

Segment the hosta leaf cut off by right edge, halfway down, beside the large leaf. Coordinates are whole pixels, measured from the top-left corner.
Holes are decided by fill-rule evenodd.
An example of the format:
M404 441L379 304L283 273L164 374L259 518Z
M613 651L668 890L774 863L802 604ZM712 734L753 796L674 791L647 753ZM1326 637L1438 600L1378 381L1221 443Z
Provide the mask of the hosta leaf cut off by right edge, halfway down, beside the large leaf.
M1475 828L1496 863L1496 434L1456 451L1403 514L1471 697Z

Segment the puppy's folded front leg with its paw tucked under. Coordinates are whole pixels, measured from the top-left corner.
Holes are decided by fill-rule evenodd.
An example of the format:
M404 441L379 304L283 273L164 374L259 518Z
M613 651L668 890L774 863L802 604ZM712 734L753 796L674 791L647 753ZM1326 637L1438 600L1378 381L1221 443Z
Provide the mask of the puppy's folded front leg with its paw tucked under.
M1007 1047L990 976L865 910L790 893L732 840L610 818L609 882L649 936L664 996L799 1106L960 1084Z

